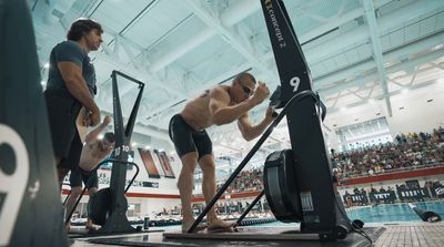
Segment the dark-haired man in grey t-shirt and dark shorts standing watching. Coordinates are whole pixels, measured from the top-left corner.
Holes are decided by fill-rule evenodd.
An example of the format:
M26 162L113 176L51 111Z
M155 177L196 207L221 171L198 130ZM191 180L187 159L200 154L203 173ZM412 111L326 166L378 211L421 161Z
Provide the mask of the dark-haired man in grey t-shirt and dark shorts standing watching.
M78 19L68 31L68 40L51 51L44 97L60 184L79 165L82 143L75 120L80 109L87 110L81 116L85 126L100 123L100 110L93 100L95 71L88 53L99 49L102 33L98 22Z

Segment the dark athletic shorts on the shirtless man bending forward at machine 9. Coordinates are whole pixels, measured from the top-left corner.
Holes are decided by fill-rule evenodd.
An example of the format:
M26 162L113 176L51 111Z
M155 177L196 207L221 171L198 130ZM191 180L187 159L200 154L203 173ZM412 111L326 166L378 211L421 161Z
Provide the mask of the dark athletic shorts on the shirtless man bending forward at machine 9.
M195 131L180 114L171 117L169 134L179 157L191 152L198 152L198 159L200 159L202 156L213 153L213 144L206 131Z

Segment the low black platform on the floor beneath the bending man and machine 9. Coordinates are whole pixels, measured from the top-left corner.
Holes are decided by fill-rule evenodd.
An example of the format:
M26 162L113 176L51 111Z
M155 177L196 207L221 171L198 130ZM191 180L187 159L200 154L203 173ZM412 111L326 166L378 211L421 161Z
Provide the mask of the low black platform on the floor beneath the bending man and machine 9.
M294 227L240 227L231 233L181 234L150 233L124 237L95 238L89 243L119 246L299 246L299 247L364 247L369 240L357 234L349 234L341 241L317 241L315 234L301 235L292 230ZM375 241L385 230L383 227L364 228L369 237Z

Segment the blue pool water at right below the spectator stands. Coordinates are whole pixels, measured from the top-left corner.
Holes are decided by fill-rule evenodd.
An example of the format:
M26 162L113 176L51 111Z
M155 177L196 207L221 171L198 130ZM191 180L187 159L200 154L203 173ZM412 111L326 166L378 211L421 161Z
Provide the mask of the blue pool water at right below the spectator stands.
M413 203L423 210L437 213L444 219L444 202ZM403 204L380 204L371 207L347 209L351 219L361 219L364 223L387 223L387 222L422 222L406 203Z

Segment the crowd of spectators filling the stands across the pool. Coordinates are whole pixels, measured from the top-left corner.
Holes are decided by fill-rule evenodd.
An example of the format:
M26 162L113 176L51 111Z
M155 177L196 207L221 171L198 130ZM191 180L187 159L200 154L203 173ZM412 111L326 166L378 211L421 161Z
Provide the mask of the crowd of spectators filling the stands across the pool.
M339 179L444 165L444 128L432 133L400 134L394 142L332 155ZM263 188L263 171L242 171L228 193L256 192ZM218 182L218 189L224 181Z

